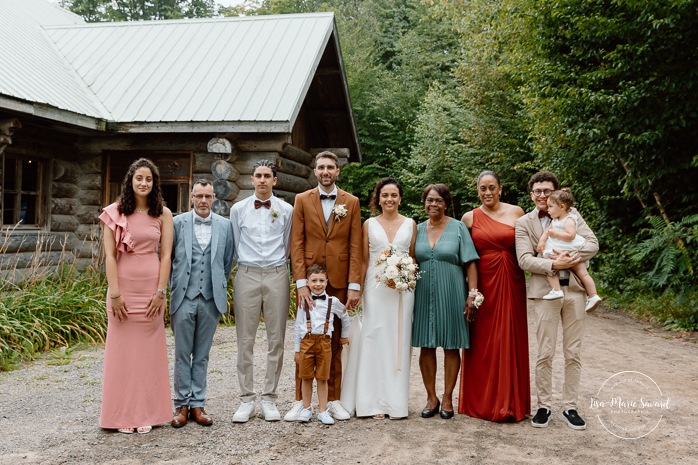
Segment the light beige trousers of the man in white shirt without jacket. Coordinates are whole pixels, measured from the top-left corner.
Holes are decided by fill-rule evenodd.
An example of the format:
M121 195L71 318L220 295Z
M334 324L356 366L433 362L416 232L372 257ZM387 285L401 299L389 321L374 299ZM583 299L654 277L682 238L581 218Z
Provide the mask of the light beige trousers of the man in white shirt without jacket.
M281 367L284 362L284 337L290 303L288 268L238 266L233 284L235 330L238 338L238 382L240 399L251 402L254 390L254 343L259 319L264 316L267 333L267 371L262 400L276 400Z

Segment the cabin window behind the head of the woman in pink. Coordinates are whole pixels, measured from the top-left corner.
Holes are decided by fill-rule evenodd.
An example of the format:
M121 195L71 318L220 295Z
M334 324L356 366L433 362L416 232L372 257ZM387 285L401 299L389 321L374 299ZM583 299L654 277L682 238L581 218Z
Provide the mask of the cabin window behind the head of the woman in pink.
M116 201L128 167L138 158L152 160L160 171L160 187L165 204L174 215L189 211L191 192L191 152L108 152L106 154L106 204Z

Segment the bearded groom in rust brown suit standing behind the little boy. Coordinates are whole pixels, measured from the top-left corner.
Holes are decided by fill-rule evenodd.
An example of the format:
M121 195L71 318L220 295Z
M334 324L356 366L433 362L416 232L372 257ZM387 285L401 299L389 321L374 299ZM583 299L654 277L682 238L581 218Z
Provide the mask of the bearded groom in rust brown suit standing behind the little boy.
M314 305L306 280L306 269L313 263L327 267L327 294L344 302L346 309L356 308L361 300L361 208L359 199L335 185L338 175L337 156L332 152L320 152L315 157L317 188L296 196L291 225L291 265L299 307ZM334 324L327 409L336 420L348 420L349 412L339 402L341 320L335 318ZM284 417L286 421L296 420L303 409L300 385L296 366L296 402Z

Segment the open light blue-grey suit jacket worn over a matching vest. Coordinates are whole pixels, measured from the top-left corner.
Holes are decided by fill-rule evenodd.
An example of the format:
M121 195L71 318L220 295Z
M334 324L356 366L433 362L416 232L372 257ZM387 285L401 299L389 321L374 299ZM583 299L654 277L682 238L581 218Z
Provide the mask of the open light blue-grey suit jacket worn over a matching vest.
M211 279L213 300L220 313L228 311L228 278L233 264L233 229L230 221L211 212ZM194 236L194 211L174 218L172 273L170 274L170 314L184 301L191 273Z

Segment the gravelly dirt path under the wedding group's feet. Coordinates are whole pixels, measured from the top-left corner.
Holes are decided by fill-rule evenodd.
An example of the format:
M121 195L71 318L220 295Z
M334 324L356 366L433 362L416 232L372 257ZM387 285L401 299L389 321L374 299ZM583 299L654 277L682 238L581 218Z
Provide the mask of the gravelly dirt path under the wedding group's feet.
M0 463L698 463L696 343L603 310L587 322L579 407L589 425L586 431L573 431L558 418L560 355L554 365L557 406L547 429L532 428L529 420L494 424L463 415L450 421L420 418L425 394L416 352L406 420L352 419L323 427L316 421L302 425L254 418L247 424L233 424L238 405L235 331L219 328L209 374L207 409L215 419L211 428L165 426L143 436L101 430L97 424L102 349L94 347L65 356L49 355L20 370L0 373ZM529 323L531 341L532 331ZM287 332L288 354L290 335ZM264 331L258 337L257 379L264 369ZM171 338L168 344L171 353ZM533 346L530 353L535 354ZM624 371L650 377L669 399L656 429L636 440L611 434L596 416L605 418L611 412L591 408L604 382ZM279 389L282 414L292 400L292 372L292 357L286 357ZM642 409L639 414L622 414L625 423L613 432L622 436L621 430L630 430L646 414Z

